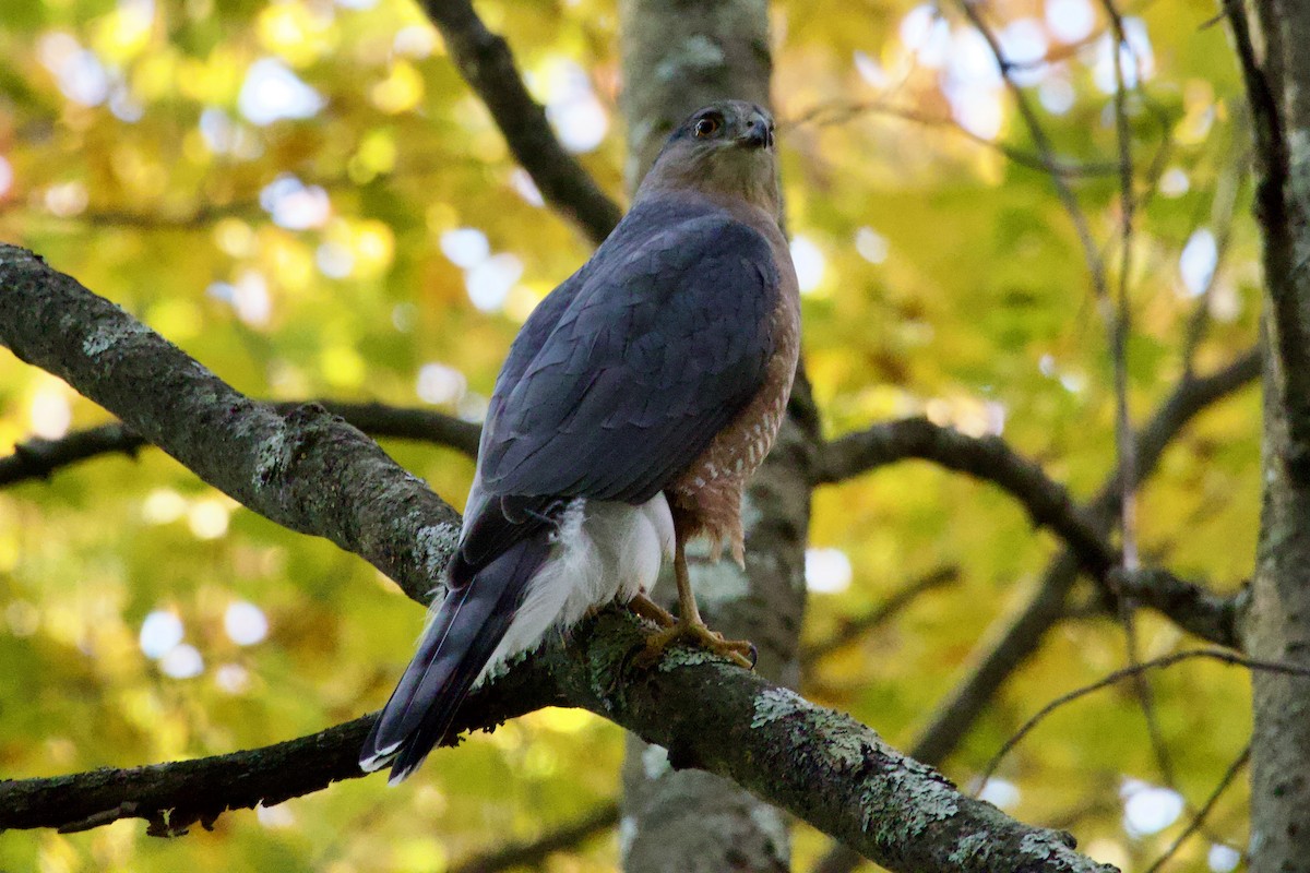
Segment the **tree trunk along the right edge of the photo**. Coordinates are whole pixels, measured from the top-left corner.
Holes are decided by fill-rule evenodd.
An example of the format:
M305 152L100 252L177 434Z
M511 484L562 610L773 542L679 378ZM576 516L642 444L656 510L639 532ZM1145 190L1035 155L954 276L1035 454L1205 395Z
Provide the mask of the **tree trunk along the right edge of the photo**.
M1310 666L1310 0L1259 0L1248 14L1233 26L1260 170L1265 397L1247 650ZM1251 870L1310 870L1310 679L1258 671L1252 691Z

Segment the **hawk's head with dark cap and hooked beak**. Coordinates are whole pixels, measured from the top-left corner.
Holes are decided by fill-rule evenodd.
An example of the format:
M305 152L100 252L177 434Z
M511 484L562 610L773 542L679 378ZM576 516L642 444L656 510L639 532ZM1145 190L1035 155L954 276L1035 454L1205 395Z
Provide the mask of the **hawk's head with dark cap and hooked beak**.
M673 131L637 192L697 191L744 199L777 217L778 162L773 116L741 99L710 103Z

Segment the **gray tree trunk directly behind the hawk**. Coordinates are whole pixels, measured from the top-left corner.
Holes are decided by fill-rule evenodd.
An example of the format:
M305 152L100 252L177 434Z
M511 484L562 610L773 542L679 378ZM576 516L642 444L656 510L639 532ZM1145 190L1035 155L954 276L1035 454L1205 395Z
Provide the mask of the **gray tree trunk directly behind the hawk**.
M769 105L769 9L765 0L625 0L620 3L630 185L635 188L668 134L688 114L734 97ZM747 493L747 572L690 552L692 582L706 622L752 640L757 669L795 685L804 607L804 538L810 522L814 427L798 385L793 415ZM802 414L812 423L814 416ZM671 599L668 584L658 596ZM787 818L731 783L673 771L667 753L631 737L624 767L620 840L630 873L777 873L790 869Z

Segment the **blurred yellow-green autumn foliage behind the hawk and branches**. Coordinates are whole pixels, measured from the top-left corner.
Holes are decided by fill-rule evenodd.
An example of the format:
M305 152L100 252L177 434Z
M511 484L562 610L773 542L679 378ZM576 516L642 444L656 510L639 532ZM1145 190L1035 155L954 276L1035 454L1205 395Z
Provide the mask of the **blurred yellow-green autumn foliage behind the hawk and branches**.
M562 141L625 199L617 24L605 0L478 4ZM984 8L1117 257L1114 47L1089 0ZM1187 366L1256 336L1248 135L1210 3L1125 8L1141 198L1129 391L1142 419ZM825 433L926 414L1001 433L1076 493L1114 466L1112 381L1082 250L986 43L954 7L772 5L789 230ZM144 319L263 398L431 404L477 420L532 306L588 245L510 158L411 0L46 0L0 9L0 238ZM1200 313L1200 315L1197 315ZM143 391L152 386L143 385ZM106 414L0 352L0 453ZM386 449L462 504L472 465ZM1150 560L1231 590L1258 521L1258 397L1199 419L1142 493ZM904 745L1058 547L1006 495L922 463L816 492L806 636L908 581L948 586L811 665L803 691ZM0 492L0 776L225 753L383 703L422 613L363 561L290 534L157 452ZM1180 633L1140 622L1145 656ZM1058 692L1124 664L1121 628L1074 616L946 772L969 784ZM1154 677L1176 789L1136 698L1056 715L988 797L1085 849L1144 865L1248 736L1241 671ZM136 821L0 835L0 869L439 872L612 798L620 730L548 711L436 754L401 789L355 780L176 840ZM1174 869L1233 869L1244 789ZM796 869L827 840L800 828ZM599 835L554 872L614 869Z

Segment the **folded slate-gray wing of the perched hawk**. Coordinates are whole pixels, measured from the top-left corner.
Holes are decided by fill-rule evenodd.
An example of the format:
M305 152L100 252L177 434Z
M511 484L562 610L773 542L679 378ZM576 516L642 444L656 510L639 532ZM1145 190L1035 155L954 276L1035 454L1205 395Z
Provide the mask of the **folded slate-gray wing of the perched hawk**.
M764 382L779 283L768 241L720 211L624 224L635 232L621 226L544 301L506 361L478 458L489 495L648 500Z

